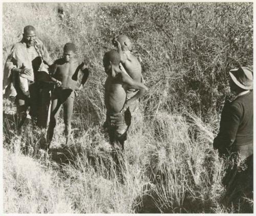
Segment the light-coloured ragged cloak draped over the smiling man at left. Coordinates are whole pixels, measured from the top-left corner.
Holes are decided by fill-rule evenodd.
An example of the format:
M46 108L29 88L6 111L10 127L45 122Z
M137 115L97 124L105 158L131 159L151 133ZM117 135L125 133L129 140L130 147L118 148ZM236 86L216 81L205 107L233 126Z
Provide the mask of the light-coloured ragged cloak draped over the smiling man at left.
M38 38L35 39L34 47L38 53L38 56L41 58L41 64L38 71L46 71L48 73L48 65L53 64L53 60L50 58L49 53L42 41ZM13 68L28 68L32 69L33 71L32 62L28 57L27 46L24 40L21 40L13 45L5 63L3 76L3 93L5 94L5 97L15 97L17 94L14 88L15 80L12 79L14 76L11 76ZM34 81L34 74L31 77L26 78Z

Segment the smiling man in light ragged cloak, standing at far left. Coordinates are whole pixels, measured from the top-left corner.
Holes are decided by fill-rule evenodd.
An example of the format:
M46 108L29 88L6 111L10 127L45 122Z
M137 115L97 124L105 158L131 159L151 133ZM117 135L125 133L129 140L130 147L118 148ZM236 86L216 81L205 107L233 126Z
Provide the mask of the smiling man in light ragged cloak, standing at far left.
M52 63L46 47L36 37L35 28L26 26L22 40L14 44L7 58L3 80L4 96L16 97L19 127L30 107L30 115L37 119L37 126L46 128L50 89L44 81L50 79L48 68Z

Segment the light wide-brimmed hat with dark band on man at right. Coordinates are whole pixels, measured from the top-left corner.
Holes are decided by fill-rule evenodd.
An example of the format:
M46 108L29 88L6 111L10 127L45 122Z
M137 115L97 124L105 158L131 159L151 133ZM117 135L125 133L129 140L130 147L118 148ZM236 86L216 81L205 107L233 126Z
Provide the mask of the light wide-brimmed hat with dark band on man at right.
M253 75L252 70L248 67L239 67L231 69L229 75L233 82L242 89L253 89Z

